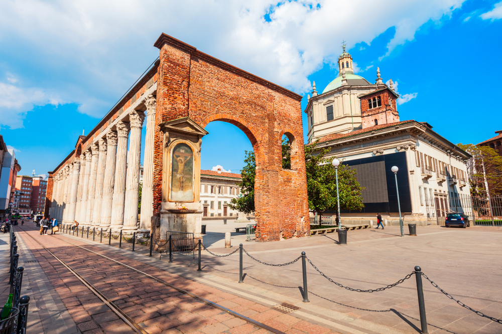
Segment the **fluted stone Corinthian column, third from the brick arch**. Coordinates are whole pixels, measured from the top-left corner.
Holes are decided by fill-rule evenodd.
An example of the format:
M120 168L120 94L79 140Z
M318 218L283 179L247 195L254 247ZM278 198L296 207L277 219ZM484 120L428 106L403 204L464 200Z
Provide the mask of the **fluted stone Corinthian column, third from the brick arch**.
M111 229L122 228L124 220L124 199L126 196L127 142L129 124L119 121L117 128L117 158L115 163L115 183L111 207Z

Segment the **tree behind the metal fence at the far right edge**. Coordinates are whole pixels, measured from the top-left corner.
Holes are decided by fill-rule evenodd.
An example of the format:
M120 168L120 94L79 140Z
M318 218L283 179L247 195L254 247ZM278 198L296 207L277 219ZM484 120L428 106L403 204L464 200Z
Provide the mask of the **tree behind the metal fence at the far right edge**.
M472 158L467 162L471 195L502 191L502 157L489 146L458 144ZM488 192L488 193L487 193Z

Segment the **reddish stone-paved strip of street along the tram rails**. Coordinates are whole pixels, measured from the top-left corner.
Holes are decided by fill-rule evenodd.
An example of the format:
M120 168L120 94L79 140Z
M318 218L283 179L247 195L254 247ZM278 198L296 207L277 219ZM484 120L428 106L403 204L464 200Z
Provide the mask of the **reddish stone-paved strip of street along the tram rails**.
M18 235L25 240L34 253L78 328L86 334L134 331L59 261L30 237L24 235L25 233L48 247L150 333L247 334L253 332L262 334L267 332L265 329L260 329L119 264L75 247L60 239L59 236L40 236L37 231L29 229L28 227L18 228L20 231ZM25 231L21 232L21 230ZM103 250L96 246L78 240L72 240L72 242L103 253ZM330 328L162 271L116 252L108 251L104 255L287 334L337 333Z

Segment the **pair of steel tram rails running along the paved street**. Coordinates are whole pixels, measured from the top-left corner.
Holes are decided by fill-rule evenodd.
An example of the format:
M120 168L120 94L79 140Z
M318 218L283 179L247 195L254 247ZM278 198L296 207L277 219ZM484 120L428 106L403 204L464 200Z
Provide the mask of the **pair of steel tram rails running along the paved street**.
M27 231L25 231L25 232L27 232ZM118 307L113 301L111 301L109 298L107 298L98 288L96 288L92 283L90 283L87 279L85 279L82 275L80 275L74 268L72 268L69 264L67 264L63 259L61 259L58 255L56 255L54 252L52 252L50 249L48 249L45 245L43 245L40 241L38 241L36 238L34 238L33 236L31 236L29 233L26 233L26 235L28 235L31 239L33 239L34 241L36 241L51 256L53 256L56 260L58 260L66 269L68 269L75 277L77 277L92 293L94 293L99 299L101 299L101 301L105 305L107 305L115 314L117 314L117 316L119 318L121 318L133 330L135 330L137 333L141 333L141 334L148 333L139 323L137 323L136 321L134 321L134 319L132 319L125 312L123 312L120 309L120 307ZM180 288L180 287L178 287L176 285L173 285L173 284L171 284L171 283L169 283L169 282L167 282L167 281L165 281L163 279L160 279L160 278L157 278L155 276L152 276L152 275L150 275L150 274L148 274L148 273L146 273L146 272L144 272L142 270L139 270L137 268L134 268L134 267L132 267L132 266L130 266L128 264L125 264L125 263L122 263L120 261L114 260L114 259L112 259L112 258L110 258L108 256L105 256L103 254L95 252L95 251L93 251L91 249L82 247L82 246L77 245L77 244L75 244L73 242L64 240L62 238L57 238L57 239L60 240L60 241L66 242L68 244L71 244L72 246L75 246L75 247L78 247L78 248L83 249L85 251L88 251L88 252L90 252L90 253L92 253L94 255L102 257L102 258L104 258L106 260L114 262L114 263L116 263L116 264L118 264L118 265L120 265L122 267L125 267L125 268L127 268L129 270L132 270L132 271L134 271L134 272L136 272L138 274L141 274L142 276L148 277L149 279L152 279L152 280L154 280L154 281L156 281L158 283L161 283L161 284L163 284L165 286L168 286L168 287L170 287L170 288L172 288L172 289L174 289L174 290L176 290L178 292L181 292L181 293L183 293L183 294L185 294L185 295L187 295L187 296L189 296L189 297L191 297L193 299L196 299L196 300L198 300L198 301L200 301L200 302L202 302L202 303L204 303L206 305L212 306L212 307L214 307L216 309L219 309L219 310L224 311L224 312L226 312L226 313L228 313L230 315L233 315L233 316L235 316L237 318L240 318L240 319L242 319L242 320L244 320L244 321L246 321L246 322L248 322L250 324L253 324L253 325L255 325L255 326L259 327L259 328L266 329L266 330L268 330L268 331L270 331L270 332L272 332L274 334L285 334L284 332L282 332L282 331L280 331L280 330L278 330L276 328L270 327L270 326L268 326L268 325L266 325L266 324L264 324L262 322L256 321L256 320L254 320L252 318L249 318L249 317L247 317L245 315L242 315L242 314L240 314L238 312L235 312L235 311L233 311L231 309L228 309L228 308L226 308L224 306L221 306L221 305L219 305L219 304L217 304L217 303L215 303L213 301L210 301L208 299L202 298L202 297L200 297L200 296L198 296L198 295L196 295L196 294L194 294L194 293L192 293L190 291L182 289L182 288Z

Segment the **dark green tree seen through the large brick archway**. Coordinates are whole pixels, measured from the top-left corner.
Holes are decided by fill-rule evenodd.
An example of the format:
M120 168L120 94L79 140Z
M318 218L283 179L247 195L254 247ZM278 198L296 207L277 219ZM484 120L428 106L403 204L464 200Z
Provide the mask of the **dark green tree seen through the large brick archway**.
M228 206L232 210L251 213L255 211L255 152L245 151L244 163L245 166L240 171L241 180L237 183L240 187L240 195L237 198L232 198Z

